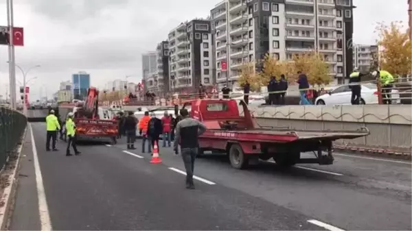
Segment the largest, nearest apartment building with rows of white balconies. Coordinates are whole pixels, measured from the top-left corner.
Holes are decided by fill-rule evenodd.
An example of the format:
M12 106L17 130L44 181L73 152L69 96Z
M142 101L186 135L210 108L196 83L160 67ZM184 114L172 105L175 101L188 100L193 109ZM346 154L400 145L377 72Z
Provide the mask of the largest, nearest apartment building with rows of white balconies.
M352 0L225 0L211 10L218 85L236 82L242 63L269 52L279 60L318 51L330 75L352 71ZM227 71L222 71L222 61ZM260 69L260 66L258 66Z

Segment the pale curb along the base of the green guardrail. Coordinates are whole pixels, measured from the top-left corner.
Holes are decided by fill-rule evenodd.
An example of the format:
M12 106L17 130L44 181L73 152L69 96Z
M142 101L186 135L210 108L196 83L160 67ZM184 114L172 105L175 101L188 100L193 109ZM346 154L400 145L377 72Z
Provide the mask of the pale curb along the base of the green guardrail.
M16 173L20 169L20 158L21 158L21 150L23 150L25 136L27 135L27 127L29 127L29 123L23 132L23 142L21 143L20 147L18 148L18 156L16 160L16 167L13 170L12 175L9 175L9 182L10 185L7 186L3 191L3 196L1 198L1 202L4 202L4 206L0 208L0 230L6 231L5 228L8 226L8 219L10 215L10 206L12 206L12 201L14 196L16 195L16 189L19 184L19 178L16 178Z

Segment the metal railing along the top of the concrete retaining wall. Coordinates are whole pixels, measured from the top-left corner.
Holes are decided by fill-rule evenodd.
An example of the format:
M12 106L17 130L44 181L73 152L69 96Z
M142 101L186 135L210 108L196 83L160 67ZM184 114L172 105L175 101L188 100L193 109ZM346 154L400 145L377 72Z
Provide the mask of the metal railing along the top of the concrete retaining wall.
M313 86L310 88L304 89L288 89L288 90L277 90L273 92L254 92L254 93L240 93L240 92L231 92L227 95L223 94L222 92L205 92L205 93L190 93L184 95L178 94L164 94L161 97L140 97L139 99L131 98L126 101L124 100L114 100L114 101L103 101L100 102L102 106L174 106L174 105L182 105L185 104L187 101L192 101L194 99L233 99L233 98L242 98L245 95L249 95L249 99L253 98L253 96L268 97L269 94L279 94L279 93L286 93L286 97L296 97L299 98L300 93L304 92L307 93L309 90L317 91L317 95L321 95L321 90L324 89L323 93L328 93L328 89L334 89L338 86L355 86L359 84L369 84L369 85L376 85L376 95L378 95L379 104L384 104L385 101L383 100L382 93L385 95L390 95L391 99L401 99L402 104L412 104L412 82L400 82L399 80L412 80L412 77L405 77L398 79L398 82L391 83L391 87L382 86L380 82L376 82L376 80L371 81L364 81L352 84L341 84L336 86Z

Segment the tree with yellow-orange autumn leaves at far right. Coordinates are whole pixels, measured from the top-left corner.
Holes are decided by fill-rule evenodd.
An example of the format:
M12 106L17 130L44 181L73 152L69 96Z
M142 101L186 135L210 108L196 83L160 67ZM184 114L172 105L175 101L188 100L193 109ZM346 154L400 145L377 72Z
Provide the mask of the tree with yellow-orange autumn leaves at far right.
M412 40L408 30L403 29L401 22L390 25L378 23L377 44L380 46L379 65L382 70L393 75L406 77L412 73Z

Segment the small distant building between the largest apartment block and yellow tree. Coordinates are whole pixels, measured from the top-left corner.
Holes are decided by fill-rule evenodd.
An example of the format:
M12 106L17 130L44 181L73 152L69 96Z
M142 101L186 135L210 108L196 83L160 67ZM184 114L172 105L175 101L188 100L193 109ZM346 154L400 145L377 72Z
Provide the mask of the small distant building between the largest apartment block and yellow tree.
M353 51L354 67L358 67L362 72L371 71L371 65L378 59L378 46L354 45Z

